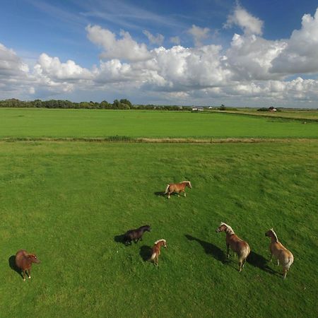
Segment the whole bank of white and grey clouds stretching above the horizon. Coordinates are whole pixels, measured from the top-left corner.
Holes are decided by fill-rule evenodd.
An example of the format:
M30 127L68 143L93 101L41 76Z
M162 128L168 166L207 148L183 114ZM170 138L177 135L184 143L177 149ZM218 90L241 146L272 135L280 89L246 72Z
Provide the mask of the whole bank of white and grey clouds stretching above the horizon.
M226 28L236 25L242 34L232 36L227 49L207 44L211 30L192 25L185 30L193 47L160 46L164 36L143 30L151 45L139 43L121 30L112 33L100 25L87 25L87 37L100 47L98 65L84 68L75 61L60 61L40 54L31 68L12 49L0 44L0 98L66 95L83 92L121 91L125 97L141 95L169 104L226 100L235 105L279 102L308 106L318 100L318 8L314 16L302 17L300 30L288 39L266 40L263 21L237 6L228 16ZM314 74L306 78L305 74ZM16 96L14 94L17 94ZM127 95L130 94L130 95ZM297 104L299 106L299 104Z

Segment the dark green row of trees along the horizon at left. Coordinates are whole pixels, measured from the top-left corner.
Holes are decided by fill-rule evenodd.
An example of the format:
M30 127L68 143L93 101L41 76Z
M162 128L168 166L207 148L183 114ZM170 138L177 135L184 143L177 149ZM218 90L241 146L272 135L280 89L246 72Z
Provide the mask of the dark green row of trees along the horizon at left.
M61 109L88 109L88 110L192 110L191 107L177 105L132 105L126 98L114 100L110 103L106 100L102 102L71 102L69 100L0 100L0 107L33 107L33 108L61 108Z

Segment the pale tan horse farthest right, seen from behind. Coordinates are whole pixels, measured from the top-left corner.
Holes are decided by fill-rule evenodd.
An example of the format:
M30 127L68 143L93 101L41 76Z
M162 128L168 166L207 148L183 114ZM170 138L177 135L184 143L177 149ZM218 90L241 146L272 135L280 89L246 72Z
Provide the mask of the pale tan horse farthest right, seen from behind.
M286 278L288 269L290 265L293 264L294 257L288 249L286 249L281 242L278 241L278 237L276 232L271 228L265 233L265 236L271 237L271 244L269 245L269 251L271 252L271 259L277 257L277 265L281 264L283 266L283 276L284 279Z

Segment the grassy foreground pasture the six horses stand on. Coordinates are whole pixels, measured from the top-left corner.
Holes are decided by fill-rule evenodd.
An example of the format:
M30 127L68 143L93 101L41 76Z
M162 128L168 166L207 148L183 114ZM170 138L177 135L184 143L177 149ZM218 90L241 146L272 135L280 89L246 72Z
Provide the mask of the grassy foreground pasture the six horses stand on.
M1 317L312 317L318 141L0 143ZM187 197L162 192L189 179ZM242 273L220 221L249 242ZM129 247L117 235L149 224ZM295 262L266 264L273 227ZM144 261L165 238L159 268ZM20 248L42 261L23 282Z

